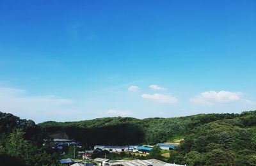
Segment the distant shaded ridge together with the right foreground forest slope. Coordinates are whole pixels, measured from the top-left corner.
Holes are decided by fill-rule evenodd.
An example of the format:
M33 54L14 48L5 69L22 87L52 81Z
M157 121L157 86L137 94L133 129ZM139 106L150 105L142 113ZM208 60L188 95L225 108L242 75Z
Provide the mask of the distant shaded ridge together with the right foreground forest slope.
M174 118L107 117L39 124L47 132L66 132L82 144L156 144L184 137L169 162L187 165L256 165L256 111L198 114Z

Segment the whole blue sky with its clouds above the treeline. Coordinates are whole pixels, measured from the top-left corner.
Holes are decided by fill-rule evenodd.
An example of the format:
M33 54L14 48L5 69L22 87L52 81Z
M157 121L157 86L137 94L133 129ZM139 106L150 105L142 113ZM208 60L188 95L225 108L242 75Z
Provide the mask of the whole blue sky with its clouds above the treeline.
M36 123L256 109L256 1L1 1L0 110Z

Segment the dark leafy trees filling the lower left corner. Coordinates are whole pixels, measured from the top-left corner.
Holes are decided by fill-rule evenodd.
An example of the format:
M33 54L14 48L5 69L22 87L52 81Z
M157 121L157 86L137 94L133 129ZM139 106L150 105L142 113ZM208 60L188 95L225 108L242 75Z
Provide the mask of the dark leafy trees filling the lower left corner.
M1 165L58 165L51 147L43 147L47 137L33 121L0 112Z

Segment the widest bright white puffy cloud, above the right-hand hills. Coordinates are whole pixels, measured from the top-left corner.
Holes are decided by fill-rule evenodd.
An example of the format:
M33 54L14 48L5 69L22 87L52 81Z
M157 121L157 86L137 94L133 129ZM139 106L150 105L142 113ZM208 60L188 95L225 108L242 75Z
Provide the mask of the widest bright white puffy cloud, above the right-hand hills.
M240 92L230 92L230 91L205 91L198 94L189 101L193 103L202 103L206 105L212 105L214 103L230 103L240 100Z

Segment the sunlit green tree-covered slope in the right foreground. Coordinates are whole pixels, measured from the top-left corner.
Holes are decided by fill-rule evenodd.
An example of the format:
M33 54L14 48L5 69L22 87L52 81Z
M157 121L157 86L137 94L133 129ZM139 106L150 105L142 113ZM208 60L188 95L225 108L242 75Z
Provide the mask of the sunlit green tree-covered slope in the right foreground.
M197 126L170 153L189 165L256 165L256 112Z

